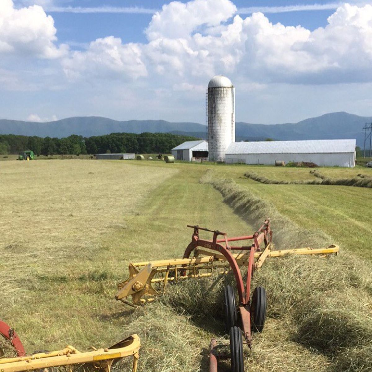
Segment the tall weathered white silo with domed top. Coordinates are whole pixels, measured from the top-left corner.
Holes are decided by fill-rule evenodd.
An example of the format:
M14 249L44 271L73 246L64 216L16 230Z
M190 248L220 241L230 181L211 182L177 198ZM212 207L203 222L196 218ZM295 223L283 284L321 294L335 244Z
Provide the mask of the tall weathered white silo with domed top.
M228 77L217 75L208 84L209 161L224 161L231 142L235 142L235 88Z

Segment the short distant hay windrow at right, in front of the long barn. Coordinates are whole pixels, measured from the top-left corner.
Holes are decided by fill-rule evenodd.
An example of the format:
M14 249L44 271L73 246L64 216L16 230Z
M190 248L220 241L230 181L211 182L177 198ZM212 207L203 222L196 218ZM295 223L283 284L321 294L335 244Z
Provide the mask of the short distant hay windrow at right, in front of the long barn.
M338 185L338 186L355 186L355 187L372 187L372 178L366 177L363 175L361 177L358 175L357 177L351 178L330 178L326 177L323 173L320 173L317 170L311 170L311 174L313 174L315 179L313 180L275 180L275 179L268 179L265 176L260 176L254 172L246 172L244 176L260 182L266 185Z

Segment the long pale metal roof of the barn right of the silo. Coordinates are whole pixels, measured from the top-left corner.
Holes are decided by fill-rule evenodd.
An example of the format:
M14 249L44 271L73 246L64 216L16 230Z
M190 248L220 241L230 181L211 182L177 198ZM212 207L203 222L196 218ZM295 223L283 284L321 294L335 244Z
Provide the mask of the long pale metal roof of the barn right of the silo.
M232 142L226 154L353 153L356 140Z

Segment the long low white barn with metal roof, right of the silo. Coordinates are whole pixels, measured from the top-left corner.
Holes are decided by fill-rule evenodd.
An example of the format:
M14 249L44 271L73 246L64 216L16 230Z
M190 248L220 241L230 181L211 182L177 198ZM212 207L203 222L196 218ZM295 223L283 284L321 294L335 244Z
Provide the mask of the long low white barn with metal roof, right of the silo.
M226 163L274 165L307 161L318 166L354 167L356 140L232 142L226 151Z

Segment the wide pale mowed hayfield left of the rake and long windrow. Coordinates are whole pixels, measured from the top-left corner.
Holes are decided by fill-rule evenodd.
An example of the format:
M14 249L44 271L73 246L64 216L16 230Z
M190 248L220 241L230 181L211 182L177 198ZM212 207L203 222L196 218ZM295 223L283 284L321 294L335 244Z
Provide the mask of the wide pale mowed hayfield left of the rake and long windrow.
M132 309L115 301L116 283L131 261L182 256L187 224L252 230L198 183L204 171L164 162L1 163L1 318L26 350L128 336Z

